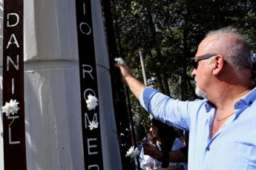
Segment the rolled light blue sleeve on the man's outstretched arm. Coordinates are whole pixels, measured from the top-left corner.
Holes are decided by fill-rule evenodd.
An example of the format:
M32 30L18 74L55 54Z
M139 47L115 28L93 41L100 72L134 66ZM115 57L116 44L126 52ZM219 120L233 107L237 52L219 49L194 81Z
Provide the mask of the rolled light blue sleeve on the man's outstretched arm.
M197 108L202 104L200 100L174 100L151 87L146 87L142 91L140 103L153 118L184 131L189 131L191 115L196 115Z

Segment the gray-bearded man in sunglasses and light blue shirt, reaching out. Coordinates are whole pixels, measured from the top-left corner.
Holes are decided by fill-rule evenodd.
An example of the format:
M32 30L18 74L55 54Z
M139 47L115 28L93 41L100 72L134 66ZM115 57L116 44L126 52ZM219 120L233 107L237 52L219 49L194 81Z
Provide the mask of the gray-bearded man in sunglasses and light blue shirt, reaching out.
M189 170L256 169L256 89L249 44L232 27L212 31L194 62L191 75L204 100L171 99L137 81L126 64L115 66L154 118L189 131Z

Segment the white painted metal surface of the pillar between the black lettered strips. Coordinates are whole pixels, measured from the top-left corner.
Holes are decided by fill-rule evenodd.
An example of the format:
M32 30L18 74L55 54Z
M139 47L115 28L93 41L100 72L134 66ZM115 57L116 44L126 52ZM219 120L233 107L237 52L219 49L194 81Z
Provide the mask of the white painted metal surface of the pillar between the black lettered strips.
M100 1L92 8L104 169L122 169ZM27 169L84 169L79 86L75 1L24 1Z

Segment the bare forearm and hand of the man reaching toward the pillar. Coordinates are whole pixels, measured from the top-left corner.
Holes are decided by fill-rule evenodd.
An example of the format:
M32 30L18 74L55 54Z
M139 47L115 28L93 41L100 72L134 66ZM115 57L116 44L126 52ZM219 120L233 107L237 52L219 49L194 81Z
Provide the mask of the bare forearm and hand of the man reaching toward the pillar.
M135 97L140 100L140 94L146 86L131 75L130 69L126 64L115 64L114 66L120 70L122 83L128 86Z

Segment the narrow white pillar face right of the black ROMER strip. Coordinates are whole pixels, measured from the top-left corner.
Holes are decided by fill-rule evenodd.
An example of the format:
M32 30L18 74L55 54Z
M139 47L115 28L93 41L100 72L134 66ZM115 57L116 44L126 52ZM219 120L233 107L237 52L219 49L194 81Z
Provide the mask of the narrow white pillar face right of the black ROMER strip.
M122 169L119 153L119 143L114 118L113 99L111 91L111 77L107 71L109 61L105 42L105 32L102 23L100 0L92 1L94 46L96 55L97 81L99 90L99 118L102 134L102 152L104 169Z

